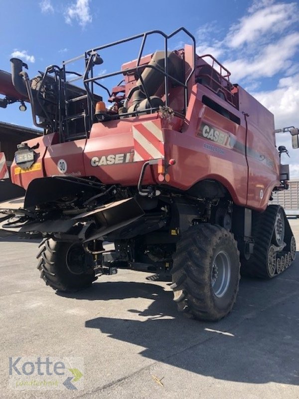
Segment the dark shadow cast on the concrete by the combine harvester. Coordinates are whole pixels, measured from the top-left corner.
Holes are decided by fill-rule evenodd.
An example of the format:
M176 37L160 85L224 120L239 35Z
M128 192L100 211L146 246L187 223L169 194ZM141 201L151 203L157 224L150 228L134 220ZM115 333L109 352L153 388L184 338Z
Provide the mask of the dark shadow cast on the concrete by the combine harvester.
M151 299L147 309L128 309L126 319L97 317L85 324L112 339L144 347L144 357L220 380L297 385L298 263L271 281L242 278L233 312L218 323L184 318L167 285L164 289L152 282L97 282L68 296Z

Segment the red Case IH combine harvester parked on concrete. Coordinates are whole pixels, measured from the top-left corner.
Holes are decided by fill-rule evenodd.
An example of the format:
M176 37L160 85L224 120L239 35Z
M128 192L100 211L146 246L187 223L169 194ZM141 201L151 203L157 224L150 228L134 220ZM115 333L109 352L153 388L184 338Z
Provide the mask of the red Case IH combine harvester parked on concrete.
M182 32L192 45L169 51ZM153 34L165 48L144 56ZM134 39L138 58L99 75L99 52ZM70 71L80 59L84 73ZM78 290L118 268L171 275L180 311L219 320L235 303L240 266L272 278L291 265L288 219L268 206L289 180L274 117L216 59L196 55L186 29L103 45L33 79L21 60L11 64L11 75L0 72L0 106L30 102L44 135L18 145L11 180L26 196L22 208L0 210L2 229L43 235L37 258L47 285ZM103 79L116 75L122 81L110 92ZM73 84L80 79L82 87ZM298 129L284 131L298 147Z

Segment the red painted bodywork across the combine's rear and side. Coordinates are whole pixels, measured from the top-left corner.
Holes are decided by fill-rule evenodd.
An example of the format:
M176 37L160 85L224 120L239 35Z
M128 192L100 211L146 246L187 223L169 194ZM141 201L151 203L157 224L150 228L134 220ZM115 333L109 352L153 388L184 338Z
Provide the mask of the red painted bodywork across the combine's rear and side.
M53 134L30 140L30 147L39 143L35 164L40 163L41 168L17 173L19 168L13 164L12 181L27 188L31 180L43 176L95 176L107 185L136 186L146 159L136 156L134 127L151 123L153 133L160 137L156 148L166 162L170 158L176 161L168 168L169 181L163 185L185 191L203 179L214 179L227 188L236 204L265 209L272 190L280 185L273 116L243 89L238 90L240 110L195 84L184 123L177 117L143 115L95 123L88 140L58 144ZM203 96L228 110L238 122L204 105ZM249 115L248 129L244 113ZM257 114L260 116L251 118ZM61 162L64 169L59 167ZM144 184L158 183L154 165L147 170Z

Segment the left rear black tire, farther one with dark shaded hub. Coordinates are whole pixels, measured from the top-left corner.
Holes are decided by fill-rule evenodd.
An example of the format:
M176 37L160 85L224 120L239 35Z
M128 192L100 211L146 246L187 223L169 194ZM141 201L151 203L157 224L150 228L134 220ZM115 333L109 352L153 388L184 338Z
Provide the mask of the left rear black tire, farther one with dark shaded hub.
M78 291L97 279L92 256L84 251L82 244L45 239L36 257L40 277L54 290Z

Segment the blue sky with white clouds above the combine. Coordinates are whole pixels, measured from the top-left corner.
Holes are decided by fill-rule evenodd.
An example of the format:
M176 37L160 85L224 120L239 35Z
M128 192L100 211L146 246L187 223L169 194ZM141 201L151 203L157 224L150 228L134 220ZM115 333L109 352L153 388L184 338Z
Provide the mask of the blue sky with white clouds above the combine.
M148 30L170 33L180 26L196 39L197 54L210 53L231 71L231 82L254 95L275 115L276 129L299 127L299 1L275 0L13 0L1 7L0 69L10 71L9 58L28 64L29 77L48 65L60 65L91 48ZM169 43L180 48L186 36ZM162 48L153 37L145 54ZM103 50L99 75L120 70L137 58L140 41ZM148 51L147 51L148 50ZM71 64L78 72L83 65ZM116 78L107 81L112 87ZM120 79L119 79L120 80ZM30 109L0 108L0 121L32 128ZM299 150L291 137L278 145L290 149L291 178L299 178Z

